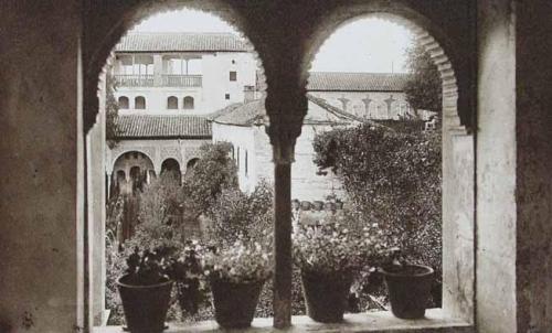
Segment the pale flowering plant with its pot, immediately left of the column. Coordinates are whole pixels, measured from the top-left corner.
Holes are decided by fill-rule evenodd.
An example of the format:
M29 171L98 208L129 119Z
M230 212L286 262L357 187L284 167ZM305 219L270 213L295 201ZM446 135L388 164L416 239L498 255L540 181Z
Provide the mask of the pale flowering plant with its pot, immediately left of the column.
M212 248L203 260L219 325L251 326L263 286L272 275L269 251L259 243L238 239L232 246Z

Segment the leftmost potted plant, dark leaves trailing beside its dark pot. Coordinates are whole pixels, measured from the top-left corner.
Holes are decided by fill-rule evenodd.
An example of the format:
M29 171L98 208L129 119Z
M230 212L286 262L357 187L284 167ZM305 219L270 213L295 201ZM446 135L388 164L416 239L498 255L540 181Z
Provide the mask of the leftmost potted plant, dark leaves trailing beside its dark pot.
M173 247L144 250L135 247L127 258L128 269L117 280L127 330L132 333L160 333L170 304L172 284L178 286L182 309L198 310L200 260L193 248L187 247L178 257Z

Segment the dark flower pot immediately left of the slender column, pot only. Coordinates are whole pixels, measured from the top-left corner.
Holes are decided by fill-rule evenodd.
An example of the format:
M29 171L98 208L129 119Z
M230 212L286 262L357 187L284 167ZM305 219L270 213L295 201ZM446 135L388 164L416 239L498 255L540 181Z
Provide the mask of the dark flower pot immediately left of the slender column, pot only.
M216 323L224 329L251 326L264 283L265 281L233 283L212 279L211 291Z

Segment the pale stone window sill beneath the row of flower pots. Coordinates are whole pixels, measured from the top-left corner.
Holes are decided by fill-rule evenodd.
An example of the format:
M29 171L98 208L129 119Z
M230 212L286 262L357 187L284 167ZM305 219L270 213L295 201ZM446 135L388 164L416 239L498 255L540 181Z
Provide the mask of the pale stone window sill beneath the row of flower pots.
M294 315L293 326L287 330L276 330L270 318L257 318L252 327L247 330L232 330L231 332L264 333L264 332L370 332L370 333L474 333L475 329L469 323L447 318L440 309L426 311L426 316L421 320L401 320L394 318L389 311L346 314L343 323L317 323L306 315ZM191 332L229 332L219 327L214 321L204 321L193 324L169 324L164 333ZM93 333L121 333L120 326L95 327Z

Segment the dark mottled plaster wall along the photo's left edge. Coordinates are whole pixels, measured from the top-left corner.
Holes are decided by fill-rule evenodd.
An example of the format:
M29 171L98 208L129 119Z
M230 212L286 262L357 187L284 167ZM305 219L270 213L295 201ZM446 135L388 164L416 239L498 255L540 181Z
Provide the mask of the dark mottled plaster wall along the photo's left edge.
M2 332L84 325L79 19L78 1L7 0L0 10Z

